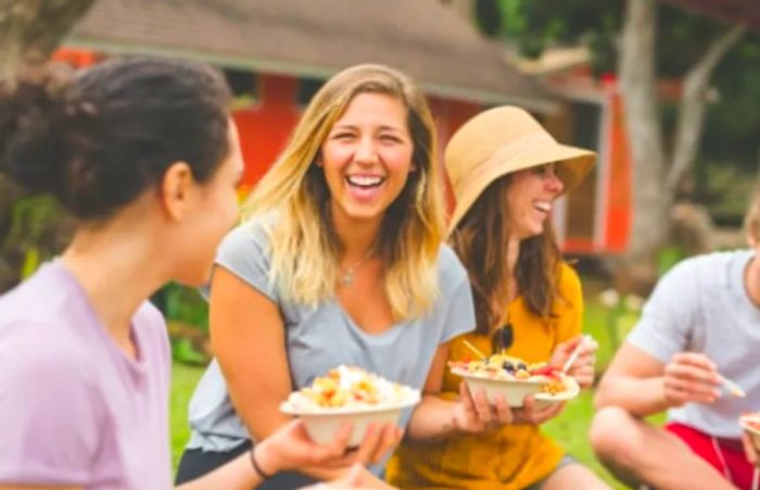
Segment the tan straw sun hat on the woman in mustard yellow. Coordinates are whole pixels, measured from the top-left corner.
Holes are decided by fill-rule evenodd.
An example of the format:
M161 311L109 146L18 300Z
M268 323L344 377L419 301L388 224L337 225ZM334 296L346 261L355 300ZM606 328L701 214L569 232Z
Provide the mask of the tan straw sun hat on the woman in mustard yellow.
M482 112L465 123L446 146L446 172L456 199L449 229L499 177L556 162L557 176L567 192L583 180L595 160L593 151L558 143L520 108Z

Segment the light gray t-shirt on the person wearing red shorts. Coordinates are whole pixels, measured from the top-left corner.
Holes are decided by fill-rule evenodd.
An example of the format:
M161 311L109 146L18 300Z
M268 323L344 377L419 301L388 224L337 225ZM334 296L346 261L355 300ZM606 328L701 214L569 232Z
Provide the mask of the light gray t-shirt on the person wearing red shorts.
M628 341L662 363L676 352L700 352L747 392L724 392L712 404L687 403L668 418L717 437L737 438L738 417L760 406L760 309L747 297L744 272L753 251L686 260L657 285Z

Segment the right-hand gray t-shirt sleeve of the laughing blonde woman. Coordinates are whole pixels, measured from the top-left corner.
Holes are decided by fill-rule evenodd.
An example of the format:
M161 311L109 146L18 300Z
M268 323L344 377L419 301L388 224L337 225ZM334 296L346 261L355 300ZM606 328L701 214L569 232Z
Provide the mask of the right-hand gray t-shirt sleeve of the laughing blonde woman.
M445 343L454 337L473 330L476 317L467 271L448 247L444 247L441 253L445 256L442 259L444 287L440 301L445 310L439 343Z

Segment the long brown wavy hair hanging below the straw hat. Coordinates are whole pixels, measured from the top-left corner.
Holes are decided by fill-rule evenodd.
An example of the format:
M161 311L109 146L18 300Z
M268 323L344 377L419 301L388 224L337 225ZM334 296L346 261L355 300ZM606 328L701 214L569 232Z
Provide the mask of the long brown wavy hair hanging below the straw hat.
M476 307L476 331L487 335L505 321L503 309L509 285L506 251L509 227L506 191L510 176L491 184L468 210L449 236L449 243L463 262L470 278ZM515 265L519 293L528 309L543 318L553 315L552 305L558 298L561 255L550 222L544 233L520 242L520 255Z

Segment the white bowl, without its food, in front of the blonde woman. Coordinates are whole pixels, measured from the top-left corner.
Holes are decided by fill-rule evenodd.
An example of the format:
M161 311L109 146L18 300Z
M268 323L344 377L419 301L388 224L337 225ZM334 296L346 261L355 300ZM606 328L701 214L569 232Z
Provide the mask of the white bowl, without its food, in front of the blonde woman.
M366 407L339 407L339 409L319 409L317 410L295 410L288 402L280 405L280 411L288 415L294 415L303 418L306 425L308 437L313 441L320 444L329 444L335 438L338 429L344 422L350 422L352 425L351 436L349 436L349 445L359 445L370 424L395 424L398 425L401 412L404 409L419 403L419 391L414 393L404 402L394 405L377 405Z

